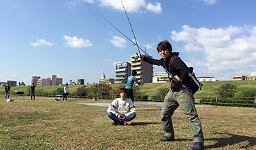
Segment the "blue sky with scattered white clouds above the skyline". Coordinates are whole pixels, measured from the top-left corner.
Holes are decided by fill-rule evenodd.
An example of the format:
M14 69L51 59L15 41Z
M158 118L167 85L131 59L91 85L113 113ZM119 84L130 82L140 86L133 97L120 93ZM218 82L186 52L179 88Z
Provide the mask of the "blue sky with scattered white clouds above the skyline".
M122 0L138 45L160 59L167 39L197 77L256 72L256 1ZM137 52L120 0L0 0L0 81L30 84L32 76L97 83ZM154 66L154 72L164 72Z

